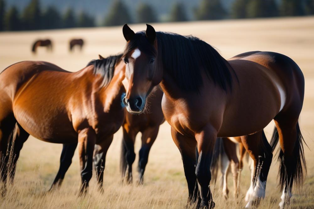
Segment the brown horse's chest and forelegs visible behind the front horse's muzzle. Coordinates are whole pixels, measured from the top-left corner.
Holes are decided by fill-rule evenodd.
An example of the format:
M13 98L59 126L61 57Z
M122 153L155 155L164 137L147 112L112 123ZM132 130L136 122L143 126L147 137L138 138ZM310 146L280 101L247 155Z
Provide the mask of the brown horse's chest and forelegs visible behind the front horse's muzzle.
M134 143L138 132L142 133L142 147L139 151L138 159L138 184L143 184L143 176L148 155L152 147L159 126L165 121L161 110L161 98L163 95L159 86L152 90L153 96L148 99L149 108L146 114L133 115L126 111L125 121L123 123L123 138L121 146L120 167L122 181L132 183L132 164L135 160Z

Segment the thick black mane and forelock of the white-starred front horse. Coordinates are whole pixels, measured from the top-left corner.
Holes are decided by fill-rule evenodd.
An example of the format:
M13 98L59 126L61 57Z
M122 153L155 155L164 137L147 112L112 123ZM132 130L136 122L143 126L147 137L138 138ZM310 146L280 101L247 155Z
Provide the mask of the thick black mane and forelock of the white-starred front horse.
M209 44L192 35L182 36L168 32L156 32L158 59L182 90L198 91L203 86L201 69L215 84L225 92L231 91L232 77L229 63ZM156 55L156 50L145 37L138 32L126 46L124 54L138 48L144 53ZM230 69L232 69L230 67Z

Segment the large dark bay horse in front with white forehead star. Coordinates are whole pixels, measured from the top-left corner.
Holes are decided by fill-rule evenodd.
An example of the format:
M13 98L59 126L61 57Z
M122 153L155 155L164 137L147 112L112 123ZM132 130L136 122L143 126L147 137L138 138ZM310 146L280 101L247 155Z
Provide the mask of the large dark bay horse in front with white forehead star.
M122 32L127 41L122 59L128 81L123 103L128 112L139 114L154 86L162 88L162 110L182 155L188 201L214 207L209 165L216 137L241 136L254 163L246 207L265 196L272 147L278 141L283 190L279 205L288 206L293 183L301 185L306 171L298 123L304 76L298 65L282 54L262 51L225 60L197 37L156 33L151 25L134 33L125 24ZM278 137L270 145L262 133L272 120Z

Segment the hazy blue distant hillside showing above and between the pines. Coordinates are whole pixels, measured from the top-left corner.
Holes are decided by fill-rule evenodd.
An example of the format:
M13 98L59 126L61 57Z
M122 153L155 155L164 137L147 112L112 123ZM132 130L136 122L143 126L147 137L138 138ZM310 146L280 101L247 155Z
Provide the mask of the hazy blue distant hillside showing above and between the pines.
M41 7L43 9L45 9L49 5L54 5L62 12L69 7L73 8L76 12L84 10L91 15L95 15L97 22L103 20L113 1L114 0L40 0ZM181 0L181 2L183 2L185 5L187 15L190 19L194 19L193 8L198 6L199 1L200 0ZM222 3L226 9L229 9L233 1L234 0L222 0ZM133 17L135 16L136 8L138 6L138 3L140 2L151 4L154 7L159 18L162 20L167 17L172 4L177 2L177 0L124 0L124 3L126 3L126 5L130 7L130 12ZM7 6L16 5L20 10L23 9L28 3L29 0L6 0Z

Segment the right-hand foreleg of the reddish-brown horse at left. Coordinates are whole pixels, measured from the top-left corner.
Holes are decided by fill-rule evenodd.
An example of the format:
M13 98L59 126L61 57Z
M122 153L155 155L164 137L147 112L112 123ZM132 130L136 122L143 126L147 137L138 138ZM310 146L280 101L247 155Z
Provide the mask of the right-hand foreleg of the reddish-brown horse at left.
M103 192L104 171L106 163L106 154L113 140L111 137L101 140L99 145L95 145L94 152L94 166L96 170L96 180L98 183L98 189Z

